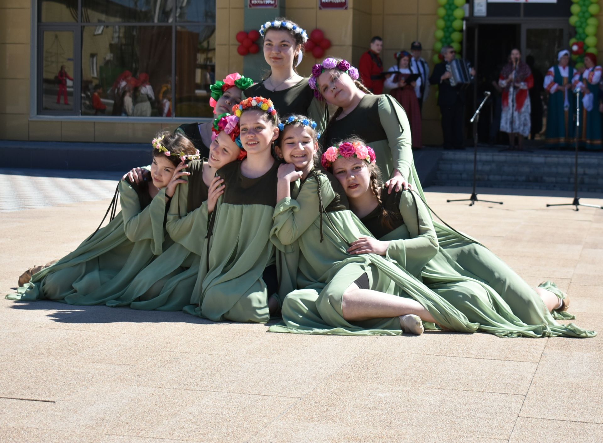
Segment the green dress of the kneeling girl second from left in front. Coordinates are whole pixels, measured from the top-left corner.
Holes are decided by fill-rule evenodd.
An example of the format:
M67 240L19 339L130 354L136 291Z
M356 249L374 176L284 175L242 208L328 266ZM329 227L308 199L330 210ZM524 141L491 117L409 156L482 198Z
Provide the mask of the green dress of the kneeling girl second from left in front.
M191 302L197 281L203 238L207 231L207 186L203 161L189 162L186 183L177 186L166 217L174 241L143 269L119 298L108 306L129 305L139 310L182 311Z

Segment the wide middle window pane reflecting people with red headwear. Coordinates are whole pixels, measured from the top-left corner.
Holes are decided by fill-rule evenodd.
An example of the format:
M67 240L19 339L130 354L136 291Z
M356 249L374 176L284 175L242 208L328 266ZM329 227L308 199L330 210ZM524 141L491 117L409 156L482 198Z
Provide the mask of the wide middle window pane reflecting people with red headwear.
M172 28L86 26L82 34L81 114L164 116L157 93L171 77Z

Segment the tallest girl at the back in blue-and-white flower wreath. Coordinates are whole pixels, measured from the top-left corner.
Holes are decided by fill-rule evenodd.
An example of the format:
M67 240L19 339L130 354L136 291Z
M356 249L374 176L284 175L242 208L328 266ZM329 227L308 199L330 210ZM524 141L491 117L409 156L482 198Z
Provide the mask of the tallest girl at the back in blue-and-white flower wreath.
M308 115L323 131L329 120L329 107L314 96L308 77L297 73L308 34L300 25L282 17L265 22L259 33L270 75L251 86L244 97L270 97L279 115Z

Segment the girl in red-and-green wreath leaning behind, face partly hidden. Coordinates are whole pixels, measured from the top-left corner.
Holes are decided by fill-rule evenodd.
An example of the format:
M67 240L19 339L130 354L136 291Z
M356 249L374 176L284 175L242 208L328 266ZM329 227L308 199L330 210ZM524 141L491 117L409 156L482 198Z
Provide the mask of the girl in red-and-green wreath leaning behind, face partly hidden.
M230 113L235 104L241 101L243 91L253 84L249 77L233 72L224 78L212 84L209 89L211 97L209 106L213 108L215 116L223 113ZM176 129L189 138L195 147L201 152L201 158L209 158L209 147L212 142L213 121L207 123L185 123Z

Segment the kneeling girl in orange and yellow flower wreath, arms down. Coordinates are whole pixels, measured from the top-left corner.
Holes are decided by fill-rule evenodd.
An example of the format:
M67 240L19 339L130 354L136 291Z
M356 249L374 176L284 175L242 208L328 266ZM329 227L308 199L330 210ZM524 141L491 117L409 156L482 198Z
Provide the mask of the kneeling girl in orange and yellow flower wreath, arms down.
M281 304L278 257L270 243L279 116L264 97L246 98L233 113L247 156L216 173L224 179L224 194L207 225L197 284L184 311L213 321L265 323Z

